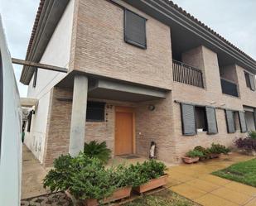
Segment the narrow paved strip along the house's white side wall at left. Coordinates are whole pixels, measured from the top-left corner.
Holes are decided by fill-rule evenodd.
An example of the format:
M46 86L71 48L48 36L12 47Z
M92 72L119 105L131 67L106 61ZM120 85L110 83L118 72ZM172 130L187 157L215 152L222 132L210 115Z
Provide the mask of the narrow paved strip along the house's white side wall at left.
M22 199L47 194L49 191L42 185L46 170L27 149L27 146L23 145L22 150Z

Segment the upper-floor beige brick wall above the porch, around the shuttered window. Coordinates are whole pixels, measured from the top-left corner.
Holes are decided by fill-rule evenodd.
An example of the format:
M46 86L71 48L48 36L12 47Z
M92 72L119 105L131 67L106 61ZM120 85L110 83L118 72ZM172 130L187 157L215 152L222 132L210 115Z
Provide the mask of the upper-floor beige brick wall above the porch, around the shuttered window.
M79 4L79 5L77 5ZM169 26L147 18L147 50L123 41L123 9L105 0L76 2L70 68L171 89L171 32ZM75 41L75 42L74 42Z

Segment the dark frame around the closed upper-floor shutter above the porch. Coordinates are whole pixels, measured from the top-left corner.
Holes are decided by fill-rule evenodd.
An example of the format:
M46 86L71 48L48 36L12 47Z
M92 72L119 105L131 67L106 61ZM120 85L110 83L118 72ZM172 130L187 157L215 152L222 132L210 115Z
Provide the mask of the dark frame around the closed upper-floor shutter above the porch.
M133 41L131 39L129 39L126 35L127 32L127 13L126 12L132 12L133 14L135 14L138 17L141 17L144 20L144 32L145 32L145 45L142 45L140 43L138 43L137 41ZM135 13L127 8L123 8L123 39L126 43L128 43L129 45L133 45L133 46L137 46L138 48L141 48L143 50L147 50L147 18L142 17L141 15L139 15L138 13Z

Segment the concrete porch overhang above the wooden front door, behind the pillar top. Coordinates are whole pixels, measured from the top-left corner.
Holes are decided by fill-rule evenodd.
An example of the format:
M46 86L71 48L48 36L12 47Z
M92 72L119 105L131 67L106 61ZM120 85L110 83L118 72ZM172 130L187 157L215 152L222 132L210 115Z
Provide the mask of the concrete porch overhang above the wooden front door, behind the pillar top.
M133 82L75 71L70 72L56 86L73 89L75 75L86 75L88 77L88 98L136 103L166 98L167 93L171 91L170 89L162 89L145 84L134 84Z

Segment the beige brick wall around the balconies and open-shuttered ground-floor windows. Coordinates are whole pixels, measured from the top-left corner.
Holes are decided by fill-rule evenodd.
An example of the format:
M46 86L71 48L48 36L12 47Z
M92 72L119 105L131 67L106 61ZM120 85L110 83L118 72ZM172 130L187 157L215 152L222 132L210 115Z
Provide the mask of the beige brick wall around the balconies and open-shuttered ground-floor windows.
M220 86L220 69L218 65L217 55L215 52L207 49L205 46L200 46L190 51L193 58L186 58L189 64L195 65L205 72L205 89L200 89L187 84L174 83L173 84L173 100L195 103L199 105L211 105L217 107L216 117L218 123L218 134L207 135L206 133L198 133L195 136L183 136L181 129L181 108L179 103L174 103L173 106L173 126L174 137L176 141L176 159L181 160L186 151L195 146L210 146L212 142L219 142L225 146L234 146L234 139L237 137L244 137L245 134L235 132L234 134L227 133L225 110L224 108L243 110L243 105L256 107L256 93L246 87L244 79L244 69L237 65L230 67L235 69L237 73L237 81L239 83L239 91L241 96L235 98L221 92ZM196 61L196 62L193 62ZM215 102L215 103L213 103ZM211 104L213 103L213 104ZM224 106L221 106L225 104ZM220 109L223 108L223 109Z

